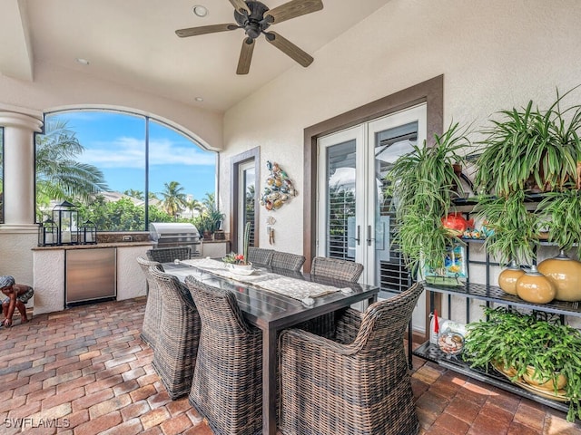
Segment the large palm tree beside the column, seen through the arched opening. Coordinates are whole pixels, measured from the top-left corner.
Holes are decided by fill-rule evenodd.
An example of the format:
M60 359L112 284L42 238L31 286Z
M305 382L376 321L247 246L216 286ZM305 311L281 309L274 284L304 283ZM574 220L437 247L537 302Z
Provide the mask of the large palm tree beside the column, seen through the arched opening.
M36 137L36 204L48 206L53 199L87 202L106 190L101 169L81 163L84 152L66 121L47 120L44 135Z

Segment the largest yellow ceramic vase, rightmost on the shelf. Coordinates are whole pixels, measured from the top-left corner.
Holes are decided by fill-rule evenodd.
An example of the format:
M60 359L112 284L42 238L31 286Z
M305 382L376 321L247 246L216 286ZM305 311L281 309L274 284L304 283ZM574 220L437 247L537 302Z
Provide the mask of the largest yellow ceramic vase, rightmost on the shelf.
M558 256L541 261L537 269L555 286L555 299L581 301L581 262L569 258L561 251Z

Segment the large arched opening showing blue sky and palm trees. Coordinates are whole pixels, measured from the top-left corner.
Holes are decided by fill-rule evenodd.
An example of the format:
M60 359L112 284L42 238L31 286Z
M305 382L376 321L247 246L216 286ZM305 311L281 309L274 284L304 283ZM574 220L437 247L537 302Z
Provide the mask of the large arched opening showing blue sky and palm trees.
M59 111L36 135L36 215L64 200L98 231L147 231L150 222L199 224L214 198L216 153L147 116Z

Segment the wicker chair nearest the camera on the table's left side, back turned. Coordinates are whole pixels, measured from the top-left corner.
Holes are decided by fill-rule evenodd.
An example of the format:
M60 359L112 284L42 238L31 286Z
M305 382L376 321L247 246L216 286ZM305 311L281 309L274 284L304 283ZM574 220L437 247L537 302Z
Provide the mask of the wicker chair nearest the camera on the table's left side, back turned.
M231 292L203 285L193 276L185 284L202 319L190 404L215 434L260 434L261 330L246 323Z

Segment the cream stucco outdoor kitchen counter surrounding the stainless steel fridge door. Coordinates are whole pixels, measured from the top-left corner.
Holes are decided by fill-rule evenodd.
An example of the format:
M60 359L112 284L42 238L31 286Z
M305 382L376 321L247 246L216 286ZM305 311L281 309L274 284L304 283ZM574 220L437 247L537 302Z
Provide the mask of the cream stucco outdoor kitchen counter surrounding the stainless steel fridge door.
M106 242L96 245L66 245L60 247L34 247L33 314L63 311L65 258L67 251L80 249L114 248L116 254L117 300L146 295L145 277L136 261L146 256L152 248L150 241ZM90 279L87 277L87 279ZM30 303L29 303L30 305Z

